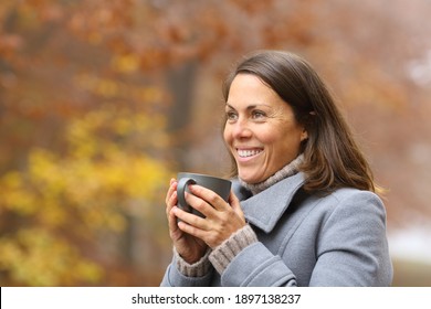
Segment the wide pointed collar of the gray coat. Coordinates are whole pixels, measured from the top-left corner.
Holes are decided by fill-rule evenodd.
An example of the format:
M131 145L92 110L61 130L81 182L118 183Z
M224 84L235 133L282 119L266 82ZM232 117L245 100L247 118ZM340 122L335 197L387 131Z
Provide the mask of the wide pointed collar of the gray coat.
M235 193L239 194L245 219L265 233L270 233L304 181L304 173L298 172L253 196L250 194L246 196L243 188L239 188L236 183Z

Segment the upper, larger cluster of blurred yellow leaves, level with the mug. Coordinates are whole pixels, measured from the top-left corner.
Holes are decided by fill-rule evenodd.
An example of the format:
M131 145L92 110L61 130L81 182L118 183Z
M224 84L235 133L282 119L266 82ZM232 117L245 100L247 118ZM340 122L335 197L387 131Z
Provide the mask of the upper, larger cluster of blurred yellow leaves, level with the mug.
M88 226L120 231L125 223L109 205L156 201L168 179L166 163L143 152L168 146L164 128L160 117L126 109L106 108L74 119L66 131L69 154L33 149L27 173L1 179L4 203L23 215L42 209L38 220L48 226L64 224L67 207L93 207L84 220Z

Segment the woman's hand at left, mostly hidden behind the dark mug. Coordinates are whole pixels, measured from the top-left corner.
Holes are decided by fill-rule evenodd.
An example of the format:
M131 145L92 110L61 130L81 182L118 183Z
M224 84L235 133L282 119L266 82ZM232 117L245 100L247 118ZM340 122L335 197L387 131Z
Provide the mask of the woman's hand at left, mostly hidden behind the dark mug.
M166 215L168 217L169 236L178 254L189 264L198 262L207 252L208 246L202 241L190 234L185 233L178 227L177 223L177 180L170 180L170 187L166 194Z

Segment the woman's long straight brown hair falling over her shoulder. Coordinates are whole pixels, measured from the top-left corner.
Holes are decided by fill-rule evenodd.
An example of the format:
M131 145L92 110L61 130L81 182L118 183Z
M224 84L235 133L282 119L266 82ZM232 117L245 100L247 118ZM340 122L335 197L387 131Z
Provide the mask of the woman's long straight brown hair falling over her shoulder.
M338 188L376 191L372 172L353 138L353 134L335 100L308 62L281 51L260 51L246 56L223 84L228 100L233 78L241 73L253 74L275 90L294 111L308 139L302 145L306 173L304 189L329 193ZM232 157L232 175L238 168Z

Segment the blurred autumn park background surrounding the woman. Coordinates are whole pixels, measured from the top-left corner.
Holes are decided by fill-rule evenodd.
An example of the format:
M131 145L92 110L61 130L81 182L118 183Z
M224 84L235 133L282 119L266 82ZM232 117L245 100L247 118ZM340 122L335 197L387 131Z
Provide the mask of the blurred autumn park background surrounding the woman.
M178 171L223 175L221 83L306 57L387 189L393 286L431 286L431 2L2 0L0 286L158 286Z

